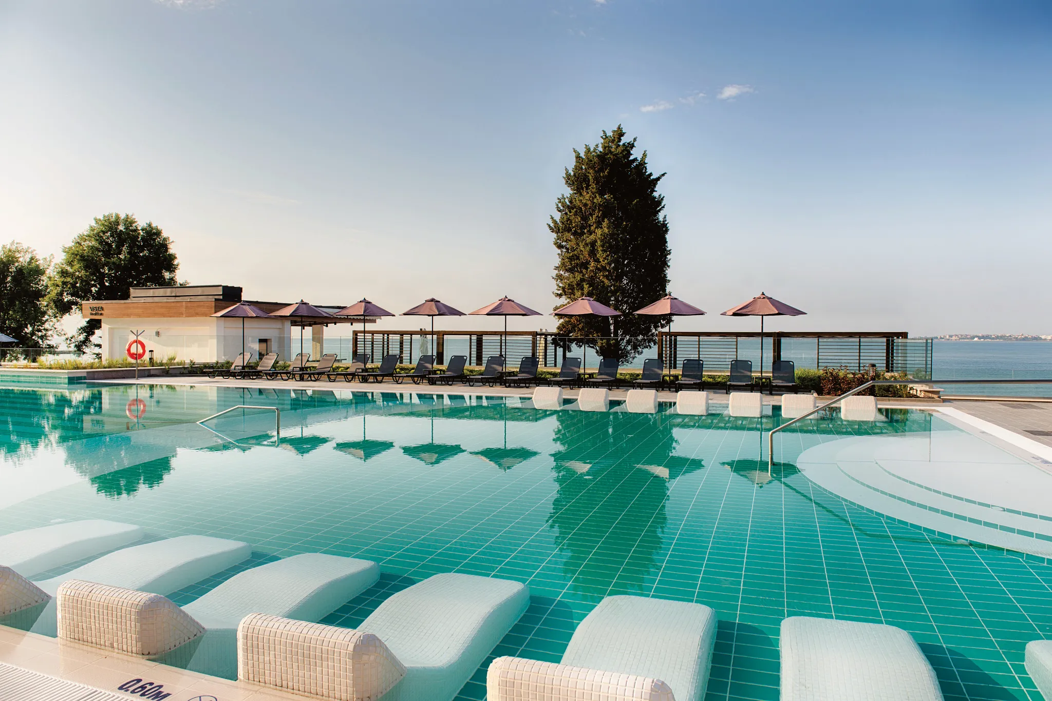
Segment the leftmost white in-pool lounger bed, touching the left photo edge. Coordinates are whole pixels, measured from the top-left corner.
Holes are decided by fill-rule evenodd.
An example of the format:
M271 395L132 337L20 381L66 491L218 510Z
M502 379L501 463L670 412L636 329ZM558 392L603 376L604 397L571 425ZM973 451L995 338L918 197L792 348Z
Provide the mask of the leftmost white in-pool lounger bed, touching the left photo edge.
M56 523L0 536L0 564L33 577L69 562L127 545L143 530L132 523L90 519Z

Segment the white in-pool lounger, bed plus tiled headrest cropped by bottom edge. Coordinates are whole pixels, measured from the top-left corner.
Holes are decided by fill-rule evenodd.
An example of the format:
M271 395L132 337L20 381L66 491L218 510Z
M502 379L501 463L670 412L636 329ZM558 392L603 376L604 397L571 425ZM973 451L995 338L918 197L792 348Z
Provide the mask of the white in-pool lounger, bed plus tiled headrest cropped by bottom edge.
M715 632L715 612L700 603L610 596L581 621L560 664L490 662L486 698L701 701Z

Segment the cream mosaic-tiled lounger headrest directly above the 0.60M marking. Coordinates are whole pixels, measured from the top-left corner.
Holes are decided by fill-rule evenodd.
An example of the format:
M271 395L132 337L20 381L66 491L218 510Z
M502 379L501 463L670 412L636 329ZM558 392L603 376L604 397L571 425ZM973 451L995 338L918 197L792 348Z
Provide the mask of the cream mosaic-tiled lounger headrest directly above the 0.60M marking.
M160 594L70 579L56 598L59 638L119 653L161 655L204 633Z

